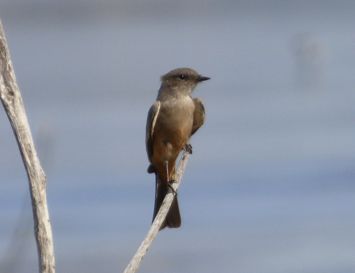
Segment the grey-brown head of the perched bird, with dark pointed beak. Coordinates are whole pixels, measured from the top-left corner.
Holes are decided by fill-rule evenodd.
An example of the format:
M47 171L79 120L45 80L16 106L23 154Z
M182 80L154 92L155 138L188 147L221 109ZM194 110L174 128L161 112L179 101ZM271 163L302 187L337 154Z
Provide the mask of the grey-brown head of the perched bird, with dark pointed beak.
M179 92L183 95L190 95L199 82L211 78L203 77L190 68L177 68L171 70L160 79L162 80L160 90L164 89L166 92L169 90L175 93Z

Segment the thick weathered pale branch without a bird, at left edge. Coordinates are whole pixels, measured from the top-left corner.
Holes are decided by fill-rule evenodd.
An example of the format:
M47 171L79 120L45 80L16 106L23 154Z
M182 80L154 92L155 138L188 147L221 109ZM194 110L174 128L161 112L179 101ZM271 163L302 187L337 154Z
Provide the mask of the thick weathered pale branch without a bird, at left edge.
M27 172L31 194L34 235L37 242L40 273L54 273L52 231L49 223L45 193L46 176L34 149L23 102L0 21L0 95L15 134L22 161Z

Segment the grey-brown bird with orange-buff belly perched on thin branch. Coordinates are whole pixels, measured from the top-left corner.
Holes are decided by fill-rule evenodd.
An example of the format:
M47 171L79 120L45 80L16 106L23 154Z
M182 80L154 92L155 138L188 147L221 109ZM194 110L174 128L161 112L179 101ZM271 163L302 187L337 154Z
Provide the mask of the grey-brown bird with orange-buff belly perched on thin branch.
M189 139L204 122L204 107L200 98L190 94L201 81L209 80L190 68L178 68L161 77L158 97L149 109L146 126L148 173L155 173L155 203L153 221L174 180L175 163L182 149L191 151ZM178 197L175 193L168 215L160 227L181 225Z

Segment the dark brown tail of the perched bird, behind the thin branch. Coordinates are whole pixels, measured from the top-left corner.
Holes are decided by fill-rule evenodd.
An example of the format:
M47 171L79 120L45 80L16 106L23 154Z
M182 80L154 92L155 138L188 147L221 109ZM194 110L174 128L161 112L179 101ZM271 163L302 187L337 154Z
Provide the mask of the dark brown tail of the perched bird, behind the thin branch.
M157 216L160 206L163 203L163 200L168 192L168 187L166 187L162 181L158 173L155 173L155 202L154 202L154 214L153 214L153 221L155 216ZM168 228L179 228L181 225L181 217L180 217L180 210L179 210L179 203L178 203L178 195L174 195L173 203L169 209L166 218L160 226L159 230L164 229L166 226Z

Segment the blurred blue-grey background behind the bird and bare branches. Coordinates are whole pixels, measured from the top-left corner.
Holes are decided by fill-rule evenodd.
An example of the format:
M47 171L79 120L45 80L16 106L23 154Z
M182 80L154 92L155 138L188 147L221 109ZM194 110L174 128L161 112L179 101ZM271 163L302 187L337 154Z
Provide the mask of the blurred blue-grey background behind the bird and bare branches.
M137 272L355 272L354 1L2 0L56 272L123 272L151 224L145 123L189 67L206 122L182 225ZM0 272L38 272L27 176L0 112Z

